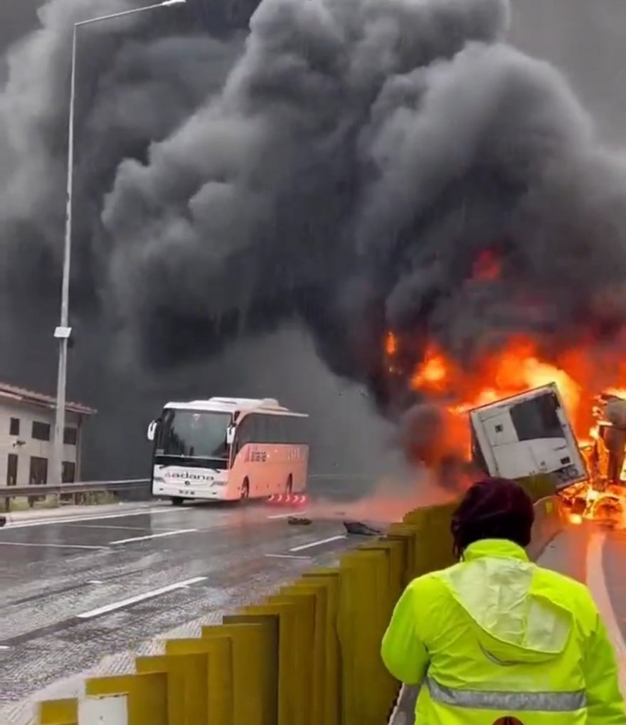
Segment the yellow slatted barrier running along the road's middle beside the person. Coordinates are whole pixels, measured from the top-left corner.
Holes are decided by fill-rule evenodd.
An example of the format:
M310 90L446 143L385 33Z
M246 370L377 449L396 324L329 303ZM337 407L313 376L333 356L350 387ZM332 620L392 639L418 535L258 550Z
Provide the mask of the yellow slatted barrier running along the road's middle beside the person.
M88 679L86 700L41 704L41 725L383 725L398 692L380 659L410 579L451 563L452 506L406 514L384 537L264 601ZM96 714L94 714L96 713ZM102 714L104 713L104 714Z

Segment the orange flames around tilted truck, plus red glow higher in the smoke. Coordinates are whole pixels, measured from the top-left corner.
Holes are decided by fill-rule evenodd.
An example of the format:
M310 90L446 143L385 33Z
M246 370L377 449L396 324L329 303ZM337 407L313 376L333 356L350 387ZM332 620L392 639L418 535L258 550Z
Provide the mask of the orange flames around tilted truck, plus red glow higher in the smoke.
M503 260L496 251L487 251L478 255L466 283L488 286L501 283L502 277ZM469 410L556 383L590 470L590 481L580 484L588 504L584 515L596 518L596 486L604 490L608 483L605 474L596 465L590 465L590 461L603 450L599 435L603 409L598 400L606 396L626 400L626 355L623 354L626 351L626 328L617 338L612 339L611 347L601 344L598 339L590 339L586 344L577 341L569 346L562 343L556 354L552 341L548 354L541 341L530 336L517 336L510 338L496 352L488 352L478 360L472 360L471 364L467 361L462 364L447 355L440 345L430 341L422 349L420 363L407 371L406 357L410 358L414 353L415 341L406 339L404 333L388 331L385 357L391 377L399 376L401 381L406 380L414 392L428 403L437 404L445 414L438 428L441 441L438 445L433 444L430 451L433 454L430 463L434 462L435 468L446 459L448 451L466 460L469 458L470 426L466 418ZM407 355L404 355L405 344ZM422 448L430 443L423 438L417 448L420 460L427 463ZM626 525L626 497L623 487L619 488L620 492L605 493L601 500L606 501L605 509L621 506ZM572 514L573 523L579 520L582 521L583 516Z

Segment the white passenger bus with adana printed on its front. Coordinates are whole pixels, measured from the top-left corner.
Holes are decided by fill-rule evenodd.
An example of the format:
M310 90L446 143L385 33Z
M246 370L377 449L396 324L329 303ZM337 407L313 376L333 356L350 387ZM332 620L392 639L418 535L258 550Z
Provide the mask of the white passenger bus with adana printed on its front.
M273 398L167 403L148 428L152 495L181 505L304 492L307 422Z

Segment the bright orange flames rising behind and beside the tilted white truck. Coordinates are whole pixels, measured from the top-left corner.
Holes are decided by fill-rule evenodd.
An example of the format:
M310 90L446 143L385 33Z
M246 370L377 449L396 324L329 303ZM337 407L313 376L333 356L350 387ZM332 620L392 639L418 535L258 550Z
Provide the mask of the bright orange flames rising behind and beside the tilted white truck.
M399 336L388 336L388 354L390 350L394 352L399 344ZM587 502L585 513L572 513L572 523L580 524L584 518L595 517L595 510L589 504L593 500L596 483L606 479L606 455L601 455L604 448L598 426L603 417L599 397L609 394L626 399L626 363L620 362L620 356L614 349L593 344L588 347L580 345L547 359L538 342L518 337L509 340L503 349L485 354L472 365L460 365L437 344L427 344L422 361L410 376L409 385L415 392L425 395L426 402L443 406L443 417L441 430L433 431L433 441L420 439L430 458L420 448L419 460L433 471L437 470L438 464L443 470L443 463L451 455L454 460L464 458L469 461L470 426L464 415L468 410L551 383L556 383L559 388L590 472L590 481L580 484L580 491L570 490L572 495L567 499L570 503L578 500L580 492ZM441 410L440 406L435 407ZM462 469L459 468L459 471ZM455 475L458 477L458 471ZM626 504L623 508L626 510Z

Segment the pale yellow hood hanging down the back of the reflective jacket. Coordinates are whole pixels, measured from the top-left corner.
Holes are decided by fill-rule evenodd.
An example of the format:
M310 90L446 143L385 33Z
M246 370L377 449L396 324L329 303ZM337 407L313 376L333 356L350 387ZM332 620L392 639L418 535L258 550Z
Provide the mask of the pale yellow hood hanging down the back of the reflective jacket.
M504 539L471 544L462 563L441 572L475 624L485 657L502 665L558 657L572 633L572 614L533 592L536 567Z

